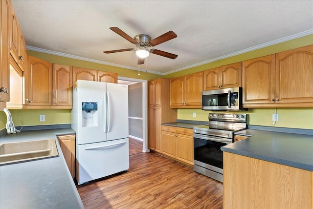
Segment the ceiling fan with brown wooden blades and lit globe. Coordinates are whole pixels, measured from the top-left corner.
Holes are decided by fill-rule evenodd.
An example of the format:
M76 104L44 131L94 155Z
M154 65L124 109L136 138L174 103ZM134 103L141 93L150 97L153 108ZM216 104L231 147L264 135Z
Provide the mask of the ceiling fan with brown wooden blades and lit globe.
M139 34L134 36L134 39L127 35L124 31L119 29L118 27L110 27L112 31L126 39L127 41L133 43L137 49L134 48L128 48L128 49L117 49L117 50L111 50L111 51L104 51L106 54L115 53L115 52L124 52L124 51L135 51L135 54L139 57L138 64L143 64L144 59L152 54L160 55L163 57L167 57L170 59L175 59L178 57L176 54L171 54L165 51L157 50L157 49L148 49L148 47L156 46L160 43L167 42L171 39L174 39L177 37L177 35L173 31L169 31L167 33L164 33L163 35L156 37L155 39L151 40L151 37L145 34Z

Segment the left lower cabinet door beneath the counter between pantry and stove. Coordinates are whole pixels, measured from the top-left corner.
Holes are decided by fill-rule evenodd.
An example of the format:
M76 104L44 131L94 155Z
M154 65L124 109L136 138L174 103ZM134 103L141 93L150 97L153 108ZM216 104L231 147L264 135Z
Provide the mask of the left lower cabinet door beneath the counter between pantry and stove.
M162 153L176 158L176 133L162 131Z

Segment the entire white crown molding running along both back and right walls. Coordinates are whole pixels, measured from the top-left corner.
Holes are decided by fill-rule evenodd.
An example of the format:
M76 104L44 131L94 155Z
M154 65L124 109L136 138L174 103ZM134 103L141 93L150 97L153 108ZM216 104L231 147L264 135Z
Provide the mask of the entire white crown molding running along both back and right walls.
M282 43L282 42L291 41L293 39L301 38L301 37L312 35L312 34L313 34L313 29L310 29L310 30L307 30L307 31L304 31L304 32L301 32L301 33L297 33L297 34L294 34L294 35L291 35L291 36L287 36L287 37L284 37L284 38L281 38L281 39L276 39L274 41L262 43L262 44L259 44L259 45L256 45L256 46L252 46L252 47L249 47L249 48L237 51L237 52L233 52L233 53L230 53L230 54L227 54L227 55L223 55L223 56L220 56L220 57L217 57L217 58L213 58L213 59L210 59L210 60L207 60L207 61L203 61L201 63L195 63L195 64L192 64L192 65L189 65L189 66L186 66L186 67L182 67L182 68L179 68L179 69L176 69L176 70L172 70L172 71L169 71L169 72L166 72L166 73L160 73L160 72L150 71L150 70L146 71L145 69L143 69L143 70L145 72L148 72L148 73L153 73L153 74L164 76L164 75L176 73L176 72L179 72L179 71L182 71L182 70L186 70L186 69L189 69L189 68L192 68L192 67L197 67L197 66L200 66L200 65L203 65L203 64L207 64L207 63L213 63L213 62L218 61L218 60L222 60L222 59L225 59L225 58L229 58L229 57L233 57L233 56L236 56L236 55L244 54L246 52L250 52L250 51L253 51L253 50L261 49L261 48L264 48L264 47L267 47L267 46L271 46L271 45L275 45L275 44ZM103 62L103 61L99 61L99 60L93 60L93 59L89 59L89 58L85 58L85 57L79 57L79 56L76 56L76 55L71 55L71 54L66 54L66 53L62 53L62 52L51 51L51 50L37 48L37 47L33 47L33 46L26 46L26 47L27 47L28 50L32 50L32 51L37 51L37 52L42 52L42 53L46 53L46 54L57 55L57 56L61 56L61 57L67 57L67 58L71 58L71 59L87 61L87 62L91 62L91 63L105 64L105 65L110 65L110 66L114 66L114 67L120 67L120 68L126 68L126 69L130 69L130 70L138 71L137 68L130 67L130 66L125 66L125 65L121 65L121 64L107 63L107 62Z

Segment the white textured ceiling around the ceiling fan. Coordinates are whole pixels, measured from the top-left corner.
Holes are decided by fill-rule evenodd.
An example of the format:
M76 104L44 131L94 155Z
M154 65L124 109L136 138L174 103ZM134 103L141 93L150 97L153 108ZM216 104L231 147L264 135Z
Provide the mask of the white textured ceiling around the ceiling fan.
M152 39L177 38L153 48L148 72L168 74L313 33L312 0L13 0L28 49L138 69L135 46L110 30ZM64 54L63 54L64 53Z

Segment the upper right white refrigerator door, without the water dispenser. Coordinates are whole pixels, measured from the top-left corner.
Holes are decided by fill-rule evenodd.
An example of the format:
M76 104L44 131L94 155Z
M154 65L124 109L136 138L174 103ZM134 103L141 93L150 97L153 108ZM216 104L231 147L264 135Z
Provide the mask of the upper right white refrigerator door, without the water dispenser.
M128 137L128 86L107 83L108 141Z

